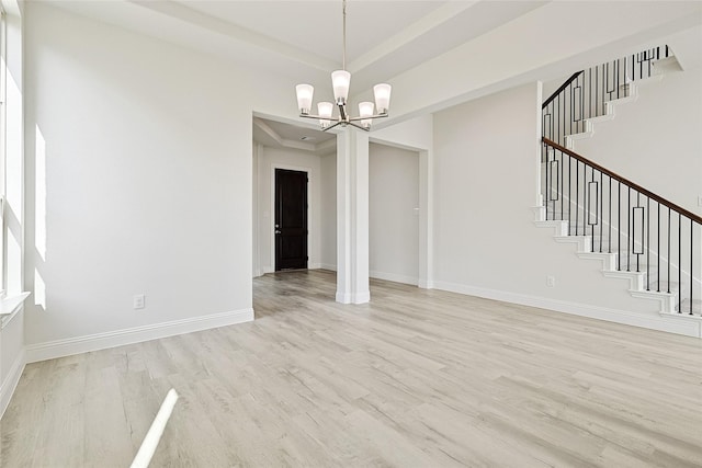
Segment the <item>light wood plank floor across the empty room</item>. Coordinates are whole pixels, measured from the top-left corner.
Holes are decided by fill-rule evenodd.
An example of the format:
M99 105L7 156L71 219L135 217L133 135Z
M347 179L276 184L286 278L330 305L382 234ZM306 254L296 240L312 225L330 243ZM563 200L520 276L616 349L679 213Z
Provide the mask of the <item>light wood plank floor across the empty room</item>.
M254 281L257 320L29 365L3 467L702 466L702 341L328 272Z

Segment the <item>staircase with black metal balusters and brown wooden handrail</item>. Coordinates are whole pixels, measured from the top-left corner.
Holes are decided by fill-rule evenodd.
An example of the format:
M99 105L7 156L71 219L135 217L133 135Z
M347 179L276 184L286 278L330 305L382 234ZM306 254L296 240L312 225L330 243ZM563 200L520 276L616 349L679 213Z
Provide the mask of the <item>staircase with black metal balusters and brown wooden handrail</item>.
M629 279L631 295L657 301L661 316L699 321L702 331L702 218L575 151L675 60L666 46L599 65L544 102L535 224L601 262L605 277Z

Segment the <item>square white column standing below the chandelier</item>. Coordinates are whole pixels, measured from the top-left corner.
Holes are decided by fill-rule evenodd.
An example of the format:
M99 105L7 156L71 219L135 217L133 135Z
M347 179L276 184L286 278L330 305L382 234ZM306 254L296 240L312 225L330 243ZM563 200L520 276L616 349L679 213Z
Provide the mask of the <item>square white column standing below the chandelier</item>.
M337 301L369 300L369 136L348 127L337 135Z

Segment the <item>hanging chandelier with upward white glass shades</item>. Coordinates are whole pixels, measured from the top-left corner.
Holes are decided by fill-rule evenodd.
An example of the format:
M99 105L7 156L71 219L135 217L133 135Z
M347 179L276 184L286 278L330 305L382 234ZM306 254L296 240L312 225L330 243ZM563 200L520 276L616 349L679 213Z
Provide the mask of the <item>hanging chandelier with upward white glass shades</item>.
M351 73L347 71L347 0L342 0L343 4L343 64L341 70L331 72L331 85L333 88L333 99L339 115L332 116L335 103L320 102L317 104L318 115L309 113L312 109L313 95L315 88L312 84L297 84L297 107L299 107L299 116L305 118L318 118L321 130L329 130L338 125L346 127L354 126L362 130L370 132L373 118L387 117L387 111L390 105L392 87L387 83L381 83L373 87L375 95L375 104L372 102L362 102L359 104L359 116L351 117L347 111L347 99L349 98L349 87L351 84ZM375 107L375 109L374 109ZM377 113L374 114L375 110ZM360 123L360 125L359 125Z

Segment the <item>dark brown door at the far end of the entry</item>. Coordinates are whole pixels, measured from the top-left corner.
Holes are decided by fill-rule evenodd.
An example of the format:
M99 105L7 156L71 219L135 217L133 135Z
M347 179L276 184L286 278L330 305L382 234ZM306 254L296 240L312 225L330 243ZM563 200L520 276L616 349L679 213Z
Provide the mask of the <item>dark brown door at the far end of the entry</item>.
M307 267L307 172L275 170L275 271Z

